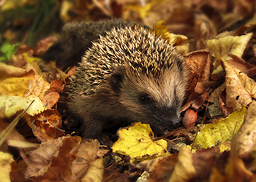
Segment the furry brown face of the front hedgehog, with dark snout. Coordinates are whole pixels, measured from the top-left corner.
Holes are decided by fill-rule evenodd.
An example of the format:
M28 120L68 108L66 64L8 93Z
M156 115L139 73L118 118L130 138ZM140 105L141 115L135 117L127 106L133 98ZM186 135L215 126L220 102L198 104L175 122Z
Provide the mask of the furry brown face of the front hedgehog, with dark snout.
M138 75L132 68L125 68L125 71L122 76L118 75L117 91L127 116L134 122L178 127L186 90L186 79L178 71L178 66L173 64L157 77L153 74Z

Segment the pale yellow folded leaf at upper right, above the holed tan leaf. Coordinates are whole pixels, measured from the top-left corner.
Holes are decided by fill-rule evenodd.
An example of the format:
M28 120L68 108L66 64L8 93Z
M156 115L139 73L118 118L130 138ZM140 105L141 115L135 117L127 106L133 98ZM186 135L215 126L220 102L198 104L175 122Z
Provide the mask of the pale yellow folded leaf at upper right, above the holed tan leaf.
M248 44L249 39L252 38L252 33L248 33L245 36L225 36L220 39L212 39L207 41L207 46L214 52L213 66L214 70L220 66L219 60L221 58L225 60L231 59L228 54L236 55L238 58L244 53L246 45ZM222 68L219 68L218 72L223 72ZM220 73L215 73L216 76ZM212 76L214 77L214 74ZM222 74L220 74L222 75ZM218 77L219 78L219 77Z

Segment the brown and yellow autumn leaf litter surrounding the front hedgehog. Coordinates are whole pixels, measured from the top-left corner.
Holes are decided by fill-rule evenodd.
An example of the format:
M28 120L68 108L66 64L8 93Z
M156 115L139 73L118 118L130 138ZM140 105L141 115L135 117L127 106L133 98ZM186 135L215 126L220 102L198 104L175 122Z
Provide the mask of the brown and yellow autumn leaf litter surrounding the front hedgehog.
M0 122L5 123L1 132L6 120L18 116L32 98L37 100L1 145L1 164L9 167L2 170L7 181L135 181L140 175L148 181L255 181L253 2L236 1L229 7L224 1L169 0L146 2L143 8L138 2L113 2L110 7L118 8L112 11L99 1L97 6L95 1L78 0L80 6L63 2L60 18L88 20L97 9L102 18L121 15L149 25L157 36L176 45L190 69L181 109L185 128L154 138L148 125L137 123L118 130L116 139L103 138L106 146L84 140L76 136L77 123L62 108L75 67L61 71L39 58L56 37L36 42L37 48L21 44L16 53L18 44L7 44L11 48L4 50L4 58L11 59L12 66L0 63ZM4 9L13 2L8 4ZM227 25L237 17L244 19ZM157 22L161 19L165 21ZM10 30L4 34L12 40L13 35ZM190 149L194 138L196 148ZM10 146L19 157L8 154Z

